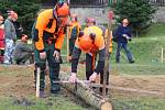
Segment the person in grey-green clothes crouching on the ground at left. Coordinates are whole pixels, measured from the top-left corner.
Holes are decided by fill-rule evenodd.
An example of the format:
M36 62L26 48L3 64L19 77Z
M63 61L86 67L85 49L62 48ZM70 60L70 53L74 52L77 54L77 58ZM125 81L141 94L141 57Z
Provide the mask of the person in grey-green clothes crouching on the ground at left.
M28 45L28 35L22 34L21 40L18 42L13 56L18 65L23 65L30 59L33 63L33 50Z

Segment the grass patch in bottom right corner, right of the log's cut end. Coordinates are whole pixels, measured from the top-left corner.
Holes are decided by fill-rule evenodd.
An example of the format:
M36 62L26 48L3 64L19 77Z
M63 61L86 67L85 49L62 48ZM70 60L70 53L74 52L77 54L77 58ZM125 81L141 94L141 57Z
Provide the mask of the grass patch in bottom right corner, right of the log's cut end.
M165 110L165 99L150 97L123 97L112 98L114 110Z

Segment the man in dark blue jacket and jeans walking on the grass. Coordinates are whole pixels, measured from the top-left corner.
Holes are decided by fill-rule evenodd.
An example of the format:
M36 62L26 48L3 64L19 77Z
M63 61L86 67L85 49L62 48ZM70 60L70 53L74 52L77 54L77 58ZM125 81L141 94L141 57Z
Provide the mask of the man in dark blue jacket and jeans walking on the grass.
M127 53L127 57L128 57L129 63L134 63L134 61L132 58L132 53L130 52L130 50L128 47L128 41L131 41L131 38L132 38L128 19L122 20L122 24L119 25L114 35L117 37L117 44L118 44L116 62L120 63L120 52L123 48Z

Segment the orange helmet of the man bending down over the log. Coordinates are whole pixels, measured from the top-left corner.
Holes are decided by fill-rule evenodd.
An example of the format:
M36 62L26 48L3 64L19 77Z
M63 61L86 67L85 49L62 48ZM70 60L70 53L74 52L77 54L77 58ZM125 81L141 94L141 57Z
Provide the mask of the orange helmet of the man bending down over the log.
M90 52L90 48L92 46L94 40L90 35L82 35L78 37L79 42L79 48L86 53Z

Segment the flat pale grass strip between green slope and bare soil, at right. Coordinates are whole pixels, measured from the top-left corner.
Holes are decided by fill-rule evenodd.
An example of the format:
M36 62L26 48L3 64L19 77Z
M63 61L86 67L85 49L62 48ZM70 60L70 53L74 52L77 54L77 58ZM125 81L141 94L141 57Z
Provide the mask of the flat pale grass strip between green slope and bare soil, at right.
M165 66L162 64L112 64L112 70L119 75L165 75Z

